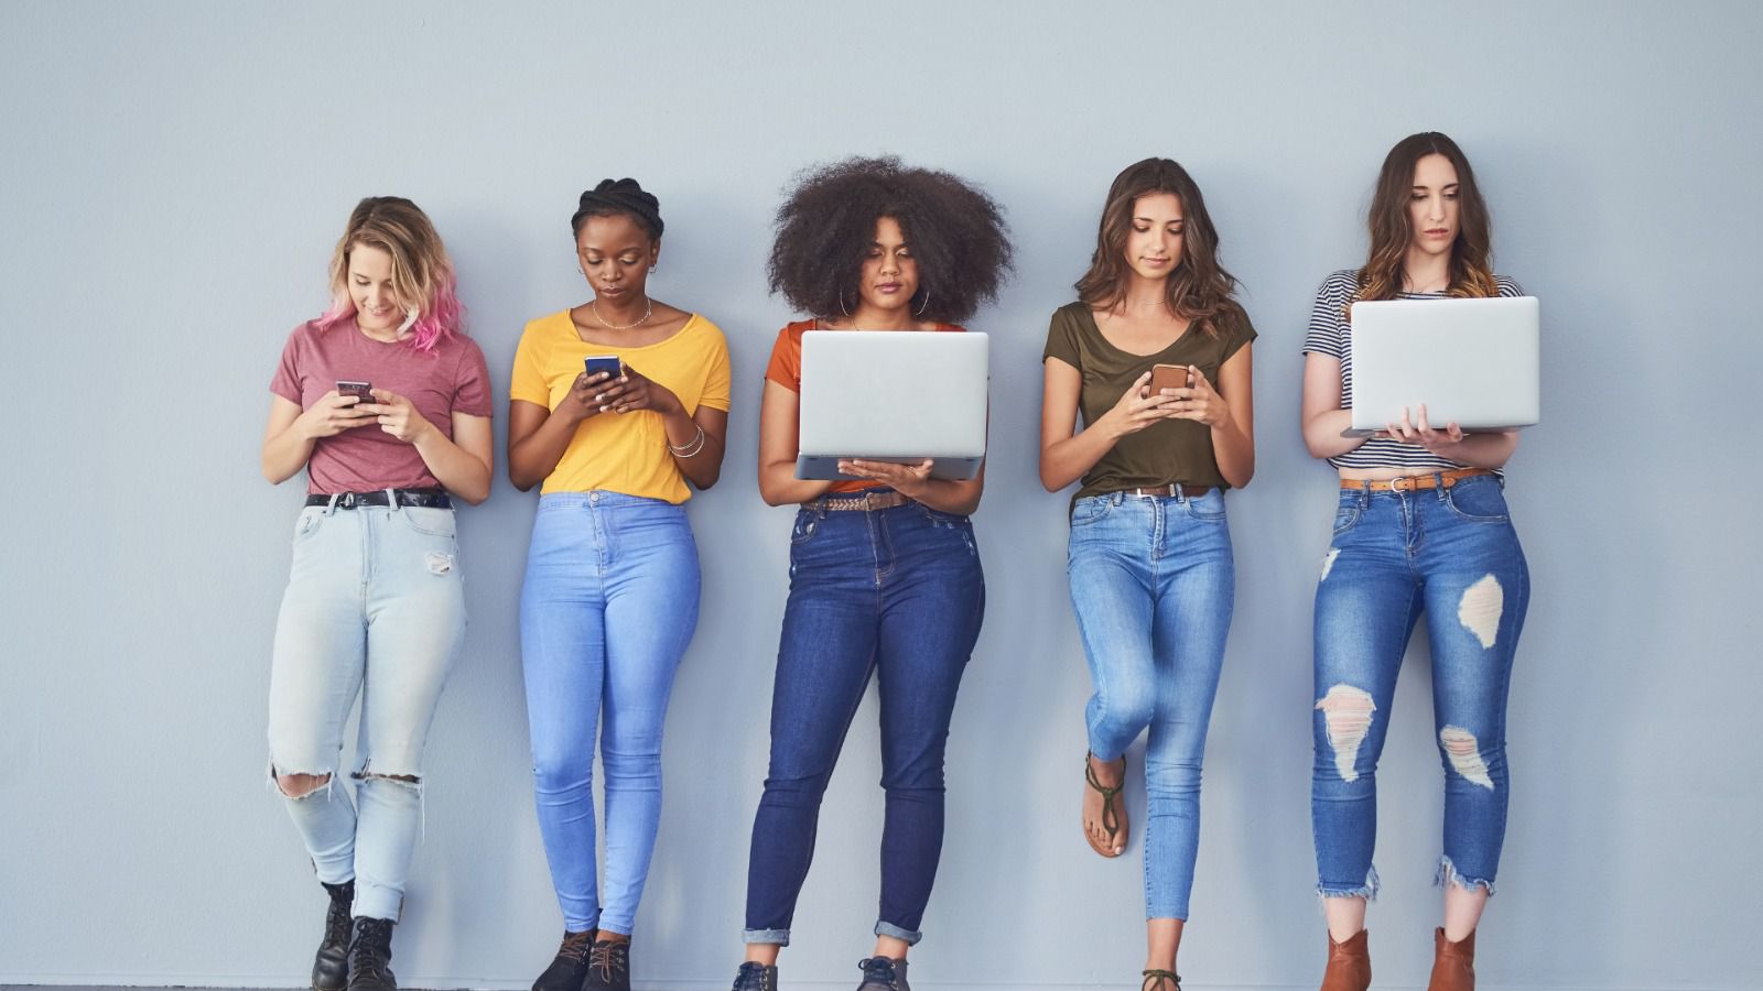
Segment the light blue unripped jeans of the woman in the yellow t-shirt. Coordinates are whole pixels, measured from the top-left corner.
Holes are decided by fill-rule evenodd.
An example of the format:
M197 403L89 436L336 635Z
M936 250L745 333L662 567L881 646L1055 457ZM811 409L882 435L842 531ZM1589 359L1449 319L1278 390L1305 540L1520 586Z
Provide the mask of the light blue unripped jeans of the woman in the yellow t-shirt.
M698 626L686 508L619 492L539 499L520 592L532 790L571 933L629 935L661 825L661 726ZM606 885L594 885L594 737L606 772Z

